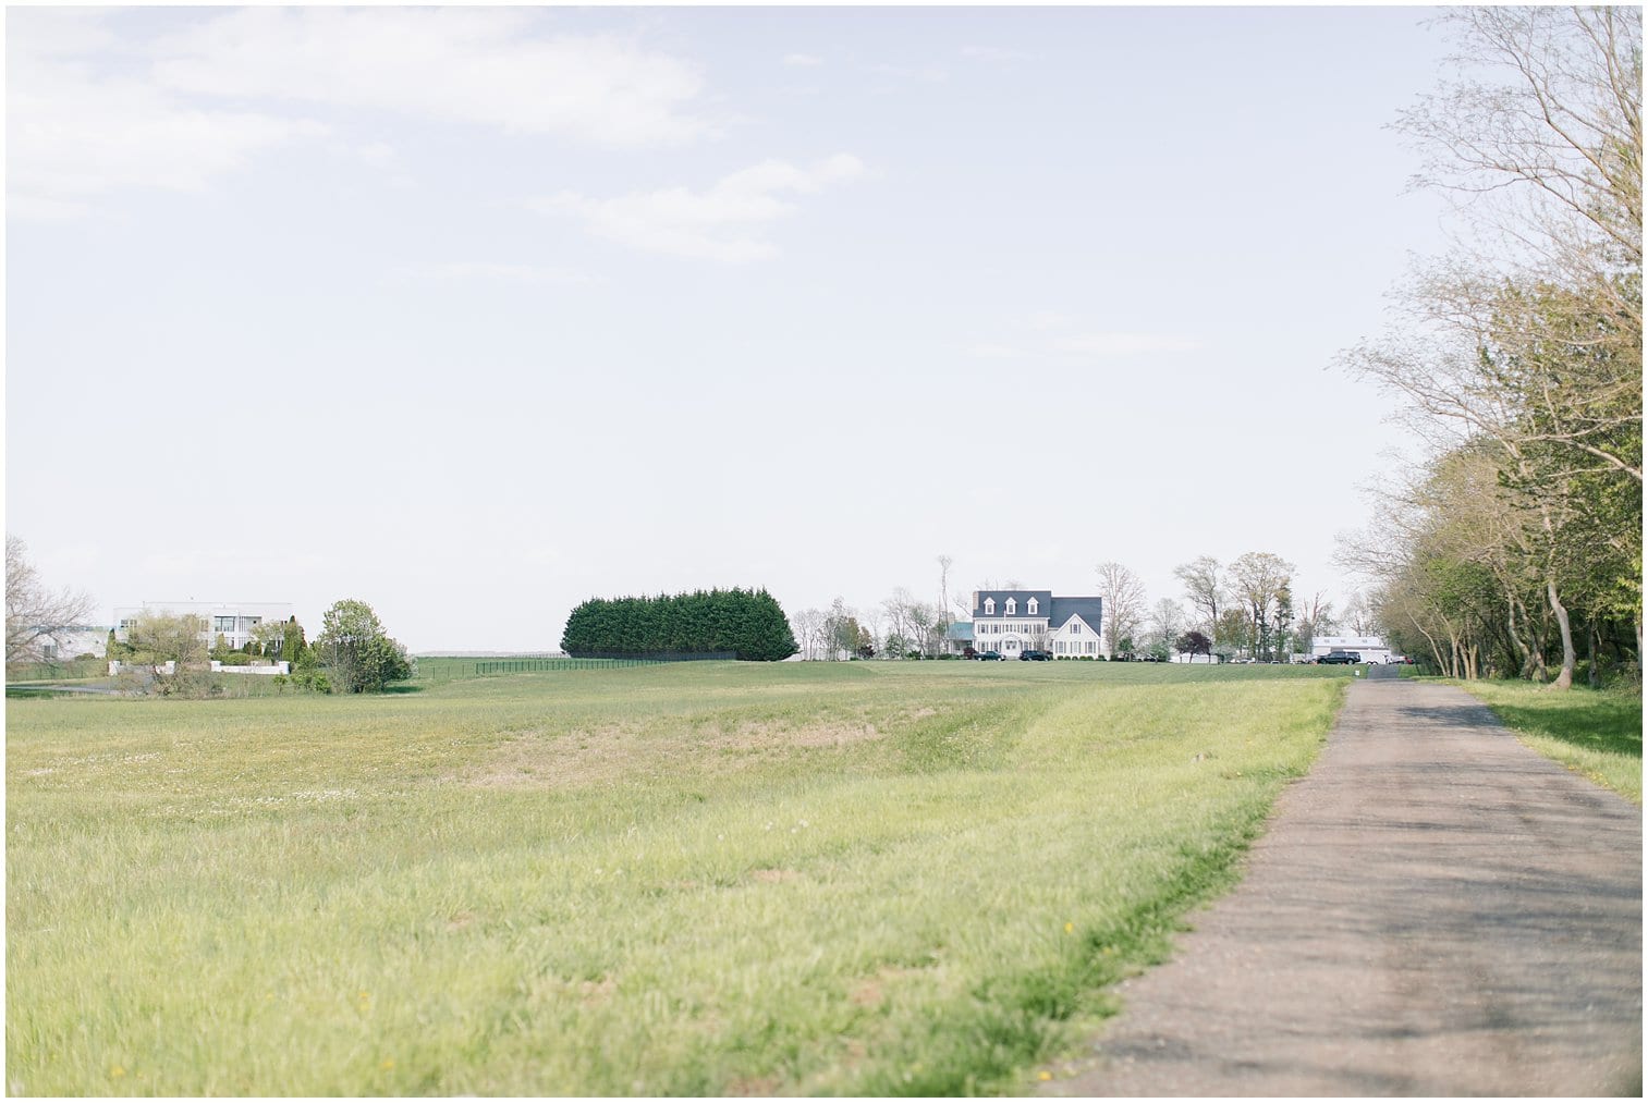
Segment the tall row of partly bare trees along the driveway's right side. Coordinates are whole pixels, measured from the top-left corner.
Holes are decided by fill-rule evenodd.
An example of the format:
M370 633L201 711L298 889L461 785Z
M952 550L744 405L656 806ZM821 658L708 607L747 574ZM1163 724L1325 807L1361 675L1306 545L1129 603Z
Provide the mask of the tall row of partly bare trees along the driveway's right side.
M1346 354L1427 446L1346 563L1444 673L1640 678L1641 10L1457 8L1462 76L1402 115L1452 252Z

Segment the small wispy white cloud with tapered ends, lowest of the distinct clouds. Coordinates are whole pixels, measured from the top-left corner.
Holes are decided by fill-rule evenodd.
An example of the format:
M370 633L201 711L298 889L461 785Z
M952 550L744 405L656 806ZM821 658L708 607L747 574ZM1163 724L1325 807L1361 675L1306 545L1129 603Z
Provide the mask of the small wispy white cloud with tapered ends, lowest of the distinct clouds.
M778 254L756 227L796 209L780 196L811 194L862 175L859 158L839 153L812 168L763 161L723 176L705 191L667 188L613 199L562 191L529 206L575 214L592 234L634 249L745 263Z

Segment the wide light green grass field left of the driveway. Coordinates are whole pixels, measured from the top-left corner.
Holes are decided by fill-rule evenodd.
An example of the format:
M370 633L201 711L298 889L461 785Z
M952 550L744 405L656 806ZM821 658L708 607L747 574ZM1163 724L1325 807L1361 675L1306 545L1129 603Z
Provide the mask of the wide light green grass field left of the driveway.
M7 703L13 1095L1014 1091L1317 667L694 663Z

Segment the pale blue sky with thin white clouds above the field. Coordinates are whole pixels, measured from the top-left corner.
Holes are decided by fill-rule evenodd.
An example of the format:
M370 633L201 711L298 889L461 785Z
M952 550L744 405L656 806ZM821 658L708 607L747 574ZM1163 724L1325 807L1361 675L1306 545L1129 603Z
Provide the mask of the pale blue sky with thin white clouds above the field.
M7 8L5 522L99 616L1343 601L1422 8ZM313 631L313 629L311 629Z

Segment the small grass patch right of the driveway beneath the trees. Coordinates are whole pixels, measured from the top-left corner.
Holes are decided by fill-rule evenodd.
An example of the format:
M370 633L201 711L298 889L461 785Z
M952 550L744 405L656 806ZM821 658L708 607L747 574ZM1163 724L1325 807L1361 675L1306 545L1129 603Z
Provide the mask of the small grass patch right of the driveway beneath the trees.
M1516 738L1567 769L1643 802L1640 688L1566 691L1528 682L1458 682Z

